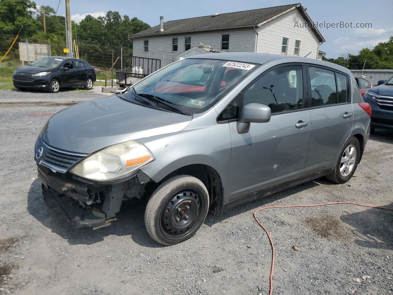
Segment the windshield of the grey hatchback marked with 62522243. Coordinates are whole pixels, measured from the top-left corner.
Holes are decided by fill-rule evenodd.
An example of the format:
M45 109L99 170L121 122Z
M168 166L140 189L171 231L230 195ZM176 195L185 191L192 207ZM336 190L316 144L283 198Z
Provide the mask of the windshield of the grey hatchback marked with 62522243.
M183 59L148 76L133 90L161 99L190 114L203 112L221 99L257 65L214 59ZM124 94L135 100L132 91Z

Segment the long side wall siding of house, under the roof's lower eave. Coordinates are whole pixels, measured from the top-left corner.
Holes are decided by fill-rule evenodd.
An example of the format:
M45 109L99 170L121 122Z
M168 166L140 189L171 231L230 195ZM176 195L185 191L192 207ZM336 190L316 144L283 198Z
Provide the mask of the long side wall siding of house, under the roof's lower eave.
M165 29L165 27L164 27ZM255 31L249 30L228 30L215 31L210 33L184 33L168 36L141 37L133 41L133 55L140 57L149 57L160 59L162 65L176 61L177 56L183 53L184 38L191 37L191 48L199 46L199 43L210 45L212 49L221 49L221 35L230 34L229 50L230 52L254 52L255 50ZM178 38L178 51L172 51L172 38ZM143 41L149 40L149 52L143 51ZM165 60L163 61L163 56Z

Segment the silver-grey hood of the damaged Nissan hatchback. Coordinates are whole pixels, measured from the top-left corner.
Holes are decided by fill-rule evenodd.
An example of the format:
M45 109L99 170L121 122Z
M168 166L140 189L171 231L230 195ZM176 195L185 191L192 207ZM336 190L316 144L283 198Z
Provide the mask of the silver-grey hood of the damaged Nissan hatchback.
M58 149L90 154L120 142L180 131L191 120L192 116L107 96L55 113L41 138Z

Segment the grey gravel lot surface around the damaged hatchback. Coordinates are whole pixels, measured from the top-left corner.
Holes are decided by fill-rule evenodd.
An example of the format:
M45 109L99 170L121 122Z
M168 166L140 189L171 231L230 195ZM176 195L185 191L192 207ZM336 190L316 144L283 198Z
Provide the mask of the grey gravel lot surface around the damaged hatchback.
M392 206L393 133L377 130L347 184L317 179L220 217L208 215L197 234L178 245L151 240L143 202L123 208L111 227L73 229L42 199L33 147L48 116L29 113L102 95L0 90L0 294L266 295L271 249L253 219L257 208L334 201ZM11 103L23 101L35 103ZM336 205L258 216L276 247L274 294L393 293L392 212Z

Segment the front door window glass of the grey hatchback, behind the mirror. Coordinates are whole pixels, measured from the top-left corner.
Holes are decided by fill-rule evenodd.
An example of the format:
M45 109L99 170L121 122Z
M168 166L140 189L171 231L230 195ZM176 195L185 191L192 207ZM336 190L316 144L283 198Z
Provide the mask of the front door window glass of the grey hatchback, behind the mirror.
M264 74L243 95L243 105L262 103L274 112L303 108L303 70L283 66Z

